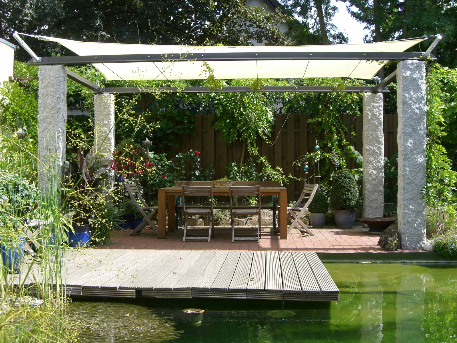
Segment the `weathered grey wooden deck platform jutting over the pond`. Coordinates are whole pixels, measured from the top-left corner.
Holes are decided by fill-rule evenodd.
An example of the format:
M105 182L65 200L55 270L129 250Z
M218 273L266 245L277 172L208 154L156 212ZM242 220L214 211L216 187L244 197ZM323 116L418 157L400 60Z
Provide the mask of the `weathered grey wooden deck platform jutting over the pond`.
M70 296L332 301L340 295L314 252L82 249L64 259ZM32 279L25 284L34 287Z

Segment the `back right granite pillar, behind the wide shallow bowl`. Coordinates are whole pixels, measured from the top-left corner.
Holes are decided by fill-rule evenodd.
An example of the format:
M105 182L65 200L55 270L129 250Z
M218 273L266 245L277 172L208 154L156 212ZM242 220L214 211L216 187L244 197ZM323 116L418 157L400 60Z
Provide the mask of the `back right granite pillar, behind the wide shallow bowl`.
M363 217L384 213L383 94L363 95Z

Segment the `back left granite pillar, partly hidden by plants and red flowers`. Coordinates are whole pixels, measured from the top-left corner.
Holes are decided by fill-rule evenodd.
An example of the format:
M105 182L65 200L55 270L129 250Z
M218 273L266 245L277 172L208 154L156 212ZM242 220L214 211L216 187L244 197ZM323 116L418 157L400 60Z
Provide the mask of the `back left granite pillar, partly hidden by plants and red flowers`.
M114 151L114 95L94 95L95 151L97 162L110 164ZM114 171L108 167L109 188L112 188Z

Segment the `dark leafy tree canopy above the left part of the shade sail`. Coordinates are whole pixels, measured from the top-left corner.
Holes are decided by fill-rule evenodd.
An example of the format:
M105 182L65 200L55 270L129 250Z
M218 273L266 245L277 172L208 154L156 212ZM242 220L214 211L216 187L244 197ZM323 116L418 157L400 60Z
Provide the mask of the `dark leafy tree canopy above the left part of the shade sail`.
M5 0L1 0L5 1ZM13 30L82 41L111 43L251 45L251 40L286 44L279 11L245 6L239 0L8 0L2 38ZM27 41L29 43L29 41ZM62 47L31 40L41 56L65 54ZM44 46L46 45L46 46ZM19 59L29 59L24 51Z

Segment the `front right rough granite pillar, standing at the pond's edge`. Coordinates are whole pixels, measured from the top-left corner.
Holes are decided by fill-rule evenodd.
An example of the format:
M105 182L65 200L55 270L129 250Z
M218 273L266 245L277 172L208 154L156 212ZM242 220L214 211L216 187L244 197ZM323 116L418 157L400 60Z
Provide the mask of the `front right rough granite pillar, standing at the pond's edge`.
M402 249L425 244L426 110L425 63L400 61L397 66L399 147L398 230Z

